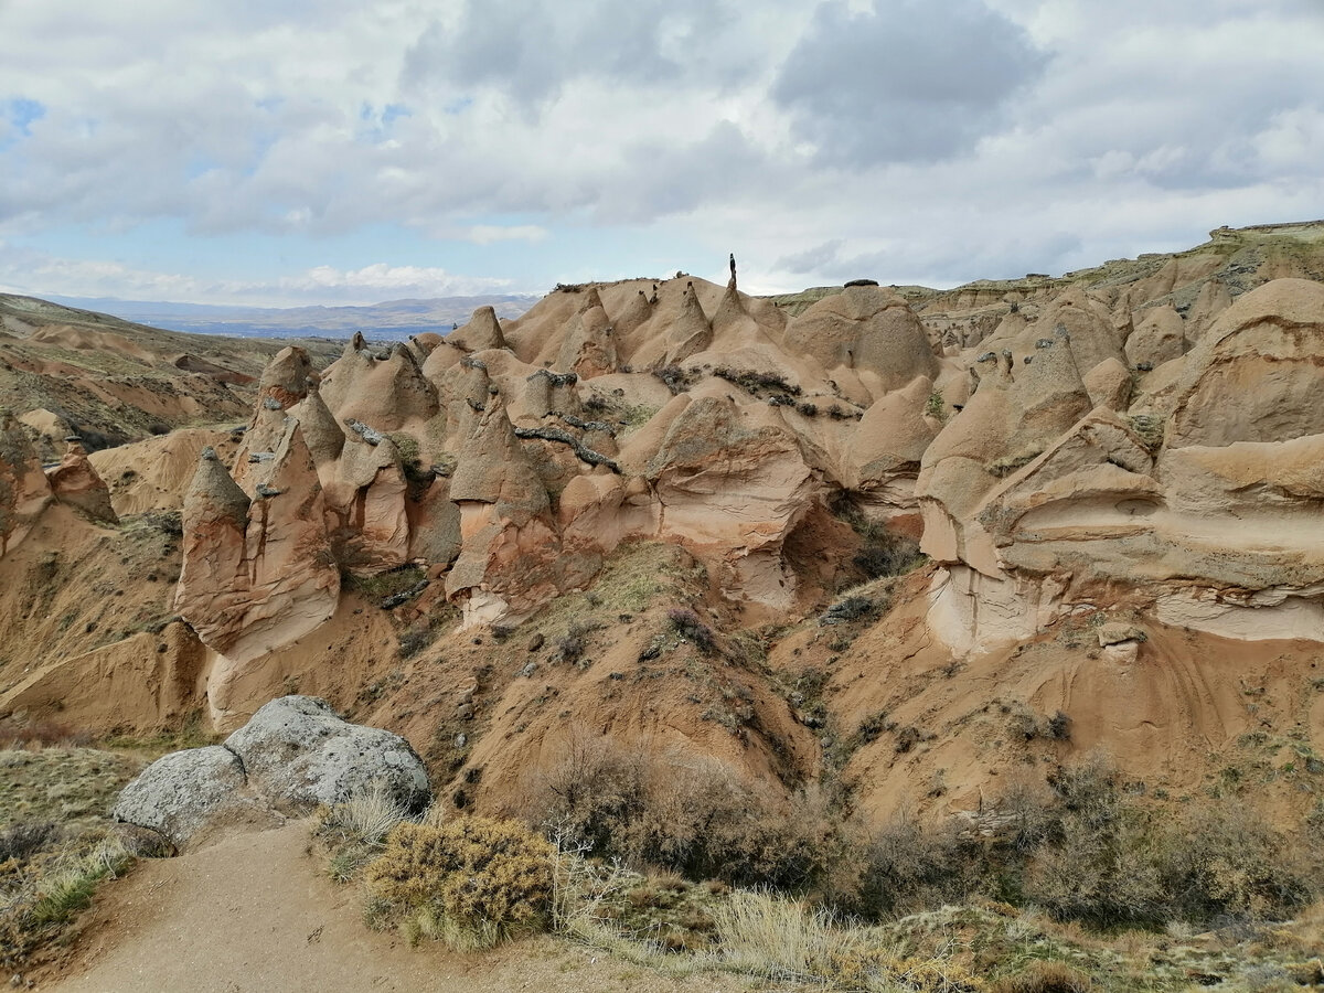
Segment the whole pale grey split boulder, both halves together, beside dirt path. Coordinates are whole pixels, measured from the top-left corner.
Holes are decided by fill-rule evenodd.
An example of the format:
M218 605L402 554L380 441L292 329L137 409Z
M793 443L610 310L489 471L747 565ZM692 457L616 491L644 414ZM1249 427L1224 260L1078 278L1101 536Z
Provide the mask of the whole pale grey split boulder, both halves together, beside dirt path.
M158 759L124 788L114 817L185 847L221 821L278 824L373 789L409 813L432 800L422 761L402 737L350 724L326 700L283 696L224 745Z

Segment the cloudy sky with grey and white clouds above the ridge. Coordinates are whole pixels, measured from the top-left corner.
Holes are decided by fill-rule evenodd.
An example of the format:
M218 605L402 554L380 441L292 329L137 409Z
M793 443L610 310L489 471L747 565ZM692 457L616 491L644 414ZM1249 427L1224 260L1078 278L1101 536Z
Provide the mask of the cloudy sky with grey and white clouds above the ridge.
M1324 0L0 0L0 290L949 286L1324 217Z

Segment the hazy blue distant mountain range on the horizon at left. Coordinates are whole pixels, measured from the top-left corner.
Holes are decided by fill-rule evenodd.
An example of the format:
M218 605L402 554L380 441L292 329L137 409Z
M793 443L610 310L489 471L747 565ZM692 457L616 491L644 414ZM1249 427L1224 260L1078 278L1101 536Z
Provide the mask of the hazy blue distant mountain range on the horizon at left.
M455 324L465 324L477 307L493 307L499 318L518 318L539 298L530 294L438 297L387 301L365 307L230 307L120 301L113 297L46 299L169 331L238 338L348 338L359 331L364 338L392 340L424 331L445 334Z

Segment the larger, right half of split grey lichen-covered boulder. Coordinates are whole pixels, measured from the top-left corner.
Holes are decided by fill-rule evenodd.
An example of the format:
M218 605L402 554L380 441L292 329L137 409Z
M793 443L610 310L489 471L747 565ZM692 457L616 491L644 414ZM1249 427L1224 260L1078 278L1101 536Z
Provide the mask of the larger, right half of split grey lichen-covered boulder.
M376 784L410 813L432 800L428 771L400 735L351 724L315 696L271 700L225 740L277 809L340 804Z

